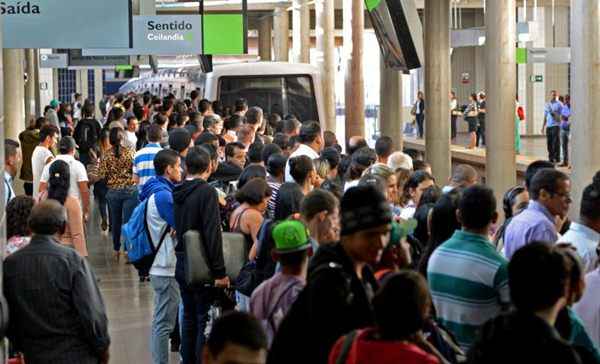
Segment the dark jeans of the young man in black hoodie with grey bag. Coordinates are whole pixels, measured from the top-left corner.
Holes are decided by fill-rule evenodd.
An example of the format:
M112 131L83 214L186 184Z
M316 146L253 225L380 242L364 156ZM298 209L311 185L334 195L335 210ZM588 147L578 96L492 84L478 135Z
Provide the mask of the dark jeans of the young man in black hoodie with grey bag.
M213 302L211 289L191 289L185 283L183 255L177 253L175 275L181 291L183 310L180 314L181 364L202 364L205 331Z

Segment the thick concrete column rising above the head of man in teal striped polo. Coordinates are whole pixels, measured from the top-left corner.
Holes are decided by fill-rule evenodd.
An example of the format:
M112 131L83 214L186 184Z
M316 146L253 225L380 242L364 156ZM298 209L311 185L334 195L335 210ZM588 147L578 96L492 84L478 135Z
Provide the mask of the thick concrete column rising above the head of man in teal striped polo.
M486 183L501 201L516 184L515 163L515 0L488 1L486 11ZM498 205L498 209L502 207Z

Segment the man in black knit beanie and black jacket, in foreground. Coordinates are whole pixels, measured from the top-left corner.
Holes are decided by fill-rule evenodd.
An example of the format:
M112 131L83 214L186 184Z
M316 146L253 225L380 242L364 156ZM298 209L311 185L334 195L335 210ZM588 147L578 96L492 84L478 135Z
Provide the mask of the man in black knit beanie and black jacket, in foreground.
M392 214L373 186L349 189L341 203L341 241L323 245L308 282L275 336L268 364L325 364L342 335L374 323L375 264L389 240ZM302 338L302 344L298 344Z

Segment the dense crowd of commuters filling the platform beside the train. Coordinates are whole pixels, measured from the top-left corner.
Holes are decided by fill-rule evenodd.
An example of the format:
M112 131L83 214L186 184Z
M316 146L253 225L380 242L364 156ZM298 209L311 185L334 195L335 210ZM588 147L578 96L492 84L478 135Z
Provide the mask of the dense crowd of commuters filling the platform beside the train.
M109 362L86 224L124 264L141 216L153 363L600 363L600 173L569 221L569 177L534 162L501 219L469 165L436 181L389 136L342 147L318 122L190 96L116 95L98 118L53 101L5 141L13 355Z

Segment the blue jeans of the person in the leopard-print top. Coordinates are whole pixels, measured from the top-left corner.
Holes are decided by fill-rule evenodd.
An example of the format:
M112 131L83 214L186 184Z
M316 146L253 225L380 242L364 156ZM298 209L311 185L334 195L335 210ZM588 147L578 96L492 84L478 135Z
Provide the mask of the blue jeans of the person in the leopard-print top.
M113 248L115 251L119 251L121 250L121 226L129 221L138 204L137 187L131 186L120 190L109 188L106 200L112 228Z

